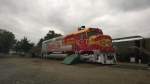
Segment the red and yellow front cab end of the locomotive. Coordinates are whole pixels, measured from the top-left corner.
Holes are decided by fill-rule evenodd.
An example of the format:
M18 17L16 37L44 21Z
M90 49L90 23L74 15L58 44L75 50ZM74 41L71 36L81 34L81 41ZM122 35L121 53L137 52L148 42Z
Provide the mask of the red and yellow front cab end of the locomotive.
M103 35L101 29L88 28L80 31L78 39L81 60L87 62L96 62L102 64L116 63L116 55L112 47L112 39L109 35Z

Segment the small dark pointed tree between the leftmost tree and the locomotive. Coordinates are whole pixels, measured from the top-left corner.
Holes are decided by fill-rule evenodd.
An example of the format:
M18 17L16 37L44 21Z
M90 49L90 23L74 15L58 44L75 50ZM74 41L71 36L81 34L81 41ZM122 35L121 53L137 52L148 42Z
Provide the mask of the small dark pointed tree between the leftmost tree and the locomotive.
M17 52L28 53L32 49L33 46L34 44L30 43L29 40L26 37L24 37L20 41L16 42L15 50Z

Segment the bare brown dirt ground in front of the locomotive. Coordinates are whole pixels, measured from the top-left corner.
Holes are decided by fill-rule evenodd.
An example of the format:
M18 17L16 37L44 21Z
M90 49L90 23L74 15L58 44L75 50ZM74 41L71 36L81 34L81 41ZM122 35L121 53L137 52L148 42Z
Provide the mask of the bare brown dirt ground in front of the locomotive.
M150 70L128 65L64 65L62 60L0 58L0 84L150 84Z

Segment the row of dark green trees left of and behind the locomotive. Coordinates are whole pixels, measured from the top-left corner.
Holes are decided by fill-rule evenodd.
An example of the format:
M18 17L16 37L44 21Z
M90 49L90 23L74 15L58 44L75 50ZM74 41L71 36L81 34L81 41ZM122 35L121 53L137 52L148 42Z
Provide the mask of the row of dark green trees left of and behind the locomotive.
M37 44L34 44L27 37L17 40L12 32L0 29L0 53L15 51L16 53L30 53L37 56L40 55L43 41L58 36L61 36L61 34L50 30L43 38L40 38Z

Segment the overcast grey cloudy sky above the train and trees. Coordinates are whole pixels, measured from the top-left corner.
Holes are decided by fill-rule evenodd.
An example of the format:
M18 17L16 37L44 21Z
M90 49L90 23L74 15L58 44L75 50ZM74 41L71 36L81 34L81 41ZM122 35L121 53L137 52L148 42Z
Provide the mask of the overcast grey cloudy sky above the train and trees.
M150 37L150 0L0 0L0 29L37 42L48 30L99 27L113 38Z

